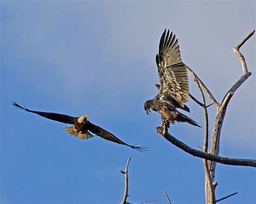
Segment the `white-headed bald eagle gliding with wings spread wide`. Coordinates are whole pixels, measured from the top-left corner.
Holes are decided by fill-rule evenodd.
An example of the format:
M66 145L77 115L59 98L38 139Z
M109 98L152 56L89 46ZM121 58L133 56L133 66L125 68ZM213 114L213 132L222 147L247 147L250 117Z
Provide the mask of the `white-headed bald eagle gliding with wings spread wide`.
M18 109L22 109L28 112L33 112L34 114L37 114L39 116L52 119L53 121L58 121L61 123L66 124L72 124L71 126L66 126L65 130L75 137L78 137L80 139L89 139L92 138L93 134L102 137L106 140L109 140L114 143L130 146L132 149L136 149L138 151L146 151L147 147L144 146L134 146L124 143L122 140L118 139L116 136L114 136L112 133L104 130L103 128L100 128L99 126L92 124L87 120L87 115L82 115L81 117L72 117L68 115L63 114L56 114L54 112L39 112L34 110L29 110L28 108L22 107L21 105L17 104L15 101L12 102L12 105L14 105Z

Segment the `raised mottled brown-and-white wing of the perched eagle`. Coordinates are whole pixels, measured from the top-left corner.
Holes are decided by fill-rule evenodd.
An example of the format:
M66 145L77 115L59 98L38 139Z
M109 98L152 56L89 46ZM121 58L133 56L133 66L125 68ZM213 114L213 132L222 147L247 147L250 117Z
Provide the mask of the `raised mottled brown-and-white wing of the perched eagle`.
M181 61L178 39L166 30L161 36L159 55L156 56L160 78L159 97L171 97L181 107L188 101L188 78L186 66ZM161 98L161 96L163 96Z

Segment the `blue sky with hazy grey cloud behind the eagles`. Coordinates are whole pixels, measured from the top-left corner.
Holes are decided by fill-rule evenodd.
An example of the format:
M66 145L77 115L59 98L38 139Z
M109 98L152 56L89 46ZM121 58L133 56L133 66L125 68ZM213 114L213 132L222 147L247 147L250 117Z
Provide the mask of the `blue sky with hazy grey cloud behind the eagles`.
M181 58L220 102L242 69L232 47L255 27L255 3L208 1L1 1L1 203L118 203L128 157L129 202L204 202L203 161L156 133L157 113L144 101L157 93L155 56L165 27ZM220 155L255 158L255 37L241 48L252 76L233 96ZM199 97L190 81L190 92ZM65 124L20 111L87 114L141 153L94 137L73 138ZM208 101L210 103L210 101ZM189 114L203 125L193 101ZM215 108L210 107L210 123ZM203 145L203 129L171 126L186 144ZM255 170L218 164L217 198L255 203ZM184 192L186 192L184 194Z

